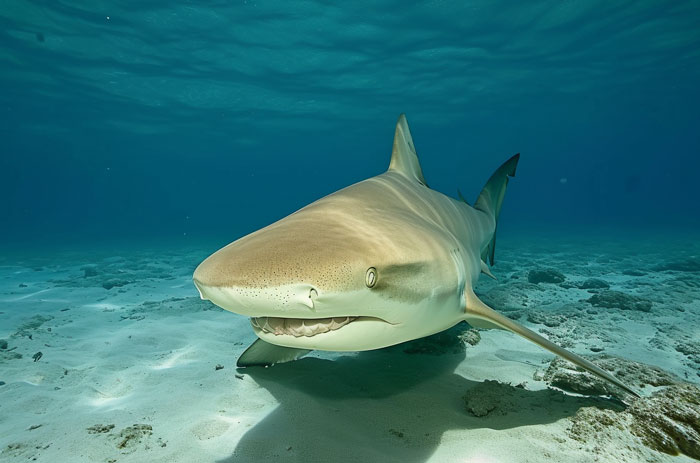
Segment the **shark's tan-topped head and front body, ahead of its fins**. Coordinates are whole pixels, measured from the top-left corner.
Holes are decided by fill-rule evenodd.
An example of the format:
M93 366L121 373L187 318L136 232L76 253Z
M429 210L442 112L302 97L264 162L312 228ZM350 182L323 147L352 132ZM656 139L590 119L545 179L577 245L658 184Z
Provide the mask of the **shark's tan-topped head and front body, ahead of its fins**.
M229 244L196 269L201 297L286 347L368 350L447 328L464 275L449 237L392 201L407 181L375 177Z

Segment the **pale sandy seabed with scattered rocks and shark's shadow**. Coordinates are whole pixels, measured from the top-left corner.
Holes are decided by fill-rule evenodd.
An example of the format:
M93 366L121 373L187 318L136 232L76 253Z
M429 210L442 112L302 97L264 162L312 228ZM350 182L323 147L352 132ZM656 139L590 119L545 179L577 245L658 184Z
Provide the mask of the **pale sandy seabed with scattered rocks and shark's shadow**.
M594 360L700 383L697 240L499 241L499 280L477 286L492 307ZM650 444L620 401L553 388L552 354L502 331L237 370L248 320L191 283L215 248L0 257L0 461L695 461Z

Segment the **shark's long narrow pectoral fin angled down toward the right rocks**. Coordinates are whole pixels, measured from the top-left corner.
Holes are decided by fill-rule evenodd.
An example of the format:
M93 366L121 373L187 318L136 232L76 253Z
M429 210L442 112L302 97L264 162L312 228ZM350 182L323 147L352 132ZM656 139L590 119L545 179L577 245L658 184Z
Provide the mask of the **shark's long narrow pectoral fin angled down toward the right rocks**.
M495 310L493 310L491 307L487 306L481 300L476 297L476 294L474 294L473 291L467 290L465 291L465 296L466 296L466 312L465 312L465 320L469 324L473 324L474 326L481 327L481 326L494 326L498 328L502 328L508 331L512 331L515 334L518 334L525 339L534 342L535 344L539 345L540 347L543 347L547 349L548 351L558 355L559 357L568 360L569 362L573 363L574 365L578 365L579 367L593 373L594 375L605 379L607 381L610 381L611 383L615 384L616 386L622 388L623 390L629 392L630 394L634 395L635 397L639 397L639 394L637 394L634 390L630 389L627 387L622 381L619 379L615 378L613 375L608 373L607 371L603 370L602 368L596 366L595 364L589 362L588 360L584 359L583 357L579 357L578 355L569 352L568 350L557 346L553 342L549 341L548 339L543 338L539 334L535 333L534 331L531 331L521 324L511 320L508 317L505 317Z

